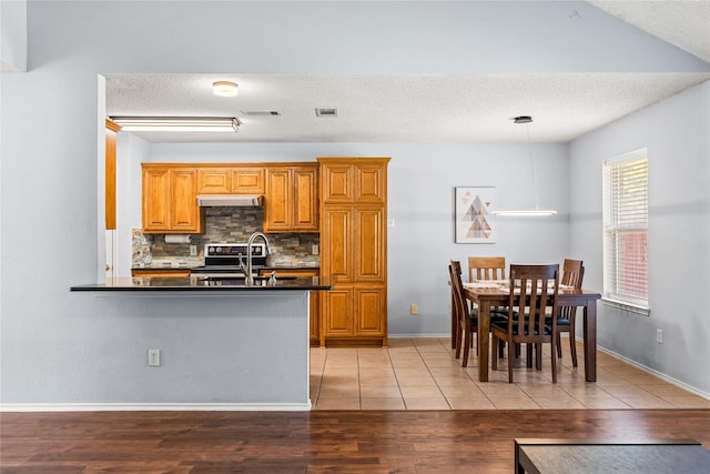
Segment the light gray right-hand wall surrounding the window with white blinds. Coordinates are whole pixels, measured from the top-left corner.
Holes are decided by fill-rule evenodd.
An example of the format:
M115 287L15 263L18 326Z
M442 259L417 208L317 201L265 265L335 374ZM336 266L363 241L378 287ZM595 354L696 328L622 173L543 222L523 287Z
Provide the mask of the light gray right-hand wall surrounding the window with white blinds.
M601 262L602 162L641 148L649 160L651 314L599 305L599 344L709 394L710 82L571 144L570 251ZM585 285L601 289L602 281L601 265L588 265Z

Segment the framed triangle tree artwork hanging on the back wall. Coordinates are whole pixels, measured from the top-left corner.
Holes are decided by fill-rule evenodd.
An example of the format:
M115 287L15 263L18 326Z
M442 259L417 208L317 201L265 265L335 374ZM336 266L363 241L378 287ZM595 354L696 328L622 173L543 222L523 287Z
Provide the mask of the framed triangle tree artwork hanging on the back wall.
M495 188L456 188L456 243L495 243Z

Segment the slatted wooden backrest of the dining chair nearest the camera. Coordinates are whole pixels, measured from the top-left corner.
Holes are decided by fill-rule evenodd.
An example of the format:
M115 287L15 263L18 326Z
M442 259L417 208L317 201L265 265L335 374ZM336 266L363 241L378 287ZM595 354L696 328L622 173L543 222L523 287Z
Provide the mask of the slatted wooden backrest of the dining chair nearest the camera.
M510 265L510 289L515 291L510 291L508 302L508 333L529 339L544 337L546 317L549 317L549 333L555 334L559 265ZM515 317L516 312L518 317ZM514 331L514 325L517 331Z

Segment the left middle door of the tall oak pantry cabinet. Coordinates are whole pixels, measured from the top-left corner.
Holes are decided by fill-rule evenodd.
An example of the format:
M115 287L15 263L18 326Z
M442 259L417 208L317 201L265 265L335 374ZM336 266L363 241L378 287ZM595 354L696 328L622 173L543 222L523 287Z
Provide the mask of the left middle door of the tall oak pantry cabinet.
M352 282L353 211L349 206L329 206L321 219L321 274L333 283Z

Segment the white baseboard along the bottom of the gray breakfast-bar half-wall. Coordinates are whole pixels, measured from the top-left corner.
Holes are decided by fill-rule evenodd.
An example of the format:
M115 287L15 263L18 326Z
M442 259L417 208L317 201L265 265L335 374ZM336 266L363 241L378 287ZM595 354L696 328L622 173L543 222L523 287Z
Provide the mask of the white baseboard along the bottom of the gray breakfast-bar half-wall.
M308 403L3 403L0 412L307 412Z

